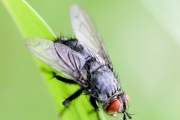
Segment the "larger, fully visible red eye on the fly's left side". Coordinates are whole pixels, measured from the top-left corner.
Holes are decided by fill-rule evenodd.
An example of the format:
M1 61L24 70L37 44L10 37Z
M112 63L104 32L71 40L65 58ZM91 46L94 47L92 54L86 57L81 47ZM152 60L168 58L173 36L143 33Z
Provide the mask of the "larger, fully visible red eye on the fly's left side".
M116 113L119 108L120 108L120 101L119 100L115 100L112 103L110 103L107 107L106 107L106 111L109 114L113 114Z

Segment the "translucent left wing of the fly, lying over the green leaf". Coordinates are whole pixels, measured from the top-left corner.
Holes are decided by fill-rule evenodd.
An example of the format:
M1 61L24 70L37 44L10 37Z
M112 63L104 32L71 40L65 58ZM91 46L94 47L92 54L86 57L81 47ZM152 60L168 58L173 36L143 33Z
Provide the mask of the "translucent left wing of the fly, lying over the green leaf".
M84 60L69 47L41 38L27 39L26 46L42 62L68 78L76 80L80 77L79 71L85 64Z

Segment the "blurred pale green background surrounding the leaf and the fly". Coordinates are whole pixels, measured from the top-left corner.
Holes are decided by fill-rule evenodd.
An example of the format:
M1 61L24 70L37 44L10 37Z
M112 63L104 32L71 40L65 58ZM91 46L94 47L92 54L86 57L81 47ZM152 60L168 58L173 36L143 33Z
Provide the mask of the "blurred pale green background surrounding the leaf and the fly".
M69 7L83 7L131 98L133 120L180 119L180 1L27 2L57 36L73 34ZM0 15L0 120L57 120L53 96L2 2Z

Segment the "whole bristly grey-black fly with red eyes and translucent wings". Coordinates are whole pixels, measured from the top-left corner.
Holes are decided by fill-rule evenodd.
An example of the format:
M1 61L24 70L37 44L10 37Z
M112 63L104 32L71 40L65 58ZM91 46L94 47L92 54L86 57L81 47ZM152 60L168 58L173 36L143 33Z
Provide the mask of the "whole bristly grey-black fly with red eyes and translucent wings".
M70 9L71 24L76 38L58 38L56 41L42 38L26 40L27 48L42 62L65 75L55 75L65 83L78 84L76 91L64 102L70 102L82 92L90 96L90 103L96 111L102 105L107 114L116 116L127 113L129 96L122 92L120 84L113 73L113 65L103 44L99 32L93 25L89 15L78 5Z

